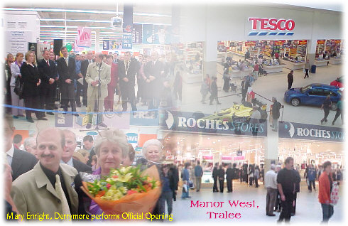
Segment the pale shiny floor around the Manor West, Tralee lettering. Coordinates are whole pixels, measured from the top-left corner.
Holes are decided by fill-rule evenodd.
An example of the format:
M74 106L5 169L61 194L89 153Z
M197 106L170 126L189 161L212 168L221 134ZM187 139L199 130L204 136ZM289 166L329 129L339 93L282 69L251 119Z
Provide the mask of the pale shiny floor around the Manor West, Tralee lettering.
M322 208L317 200L317 192L309 193L305 188L304 181L301 182L301 192L298 193L296 215L291 217L293 223L320 223L322 220ZM231 223L244 223L244 222L261 222L261 223L276 223L279 213L275 212L276 217L266 216L266 189L261 184L259 188L249 187L245 183L239 183L234 181L233 193L226 193L226 187L224 193L212 193L210 188L203 188L197 193L195 190L190 190L190 199L180 199L181 192L178 191L178 199L173 202L173 222L231 222ZM191 201L197 202L224 202L222 208L196 208L191 207ZM236 208L229 205L229 200L233 202L240 200L243 202L255 201L255 208ZM342 222L343 216L343 204L344 200L340 200L335 206L335 213L330 219L330 222ZM217 203L216 203L217 204ZM257 208L259 207L259 208ZM207 212L228 212L228 213L241 213L240 219L210 219L210 213ZM214 215L212 215L214 216Z

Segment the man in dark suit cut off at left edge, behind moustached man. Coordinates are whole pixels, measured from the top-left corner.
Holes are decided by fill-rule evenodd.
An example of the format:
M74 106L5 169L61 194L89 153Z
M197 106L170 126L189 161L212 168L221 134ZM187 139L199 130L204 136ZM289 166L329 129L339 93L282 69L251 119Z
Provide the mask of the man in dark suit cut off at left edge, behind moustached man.
M10 114L6 114L4 118L4 141L6 161L12 168L12 181L16 180L21 174L33 169L38 162L32 154L13 147L12 136L15 129L13 127L13 117Z

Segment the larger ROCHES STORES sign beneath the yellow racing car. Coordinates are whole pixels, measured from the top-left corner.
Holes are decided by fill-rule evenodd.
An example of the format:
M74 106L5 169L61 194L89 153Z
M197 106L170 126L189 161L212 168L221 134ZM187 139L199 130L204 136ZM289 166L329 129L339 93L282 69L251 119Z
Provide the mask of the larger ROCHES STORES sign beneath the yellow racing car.
M210 116L210 117L209 117ZM162 129L171 131L185 131L207 134L231 134L241 136L253 136L256 131L257 136L267 136L267 122L252 124L246 119L227 122L216 117L212 119L211 114L202 112L177 112L165 110L160 118Z

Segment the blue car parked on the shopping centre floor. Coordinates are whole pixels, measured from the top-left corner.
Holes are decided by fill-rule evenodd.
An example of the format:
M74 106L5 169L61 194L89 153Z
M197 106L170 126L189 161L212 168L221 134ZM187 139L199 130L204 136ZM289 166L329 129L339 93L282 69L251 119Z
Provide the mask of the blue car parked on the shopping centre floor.
M336 110L341 93L339 87L333 85L313 83L302 88L293 88L284 93L284 100L293 106L300 104L321 106L327 95L331 96L331 109Z

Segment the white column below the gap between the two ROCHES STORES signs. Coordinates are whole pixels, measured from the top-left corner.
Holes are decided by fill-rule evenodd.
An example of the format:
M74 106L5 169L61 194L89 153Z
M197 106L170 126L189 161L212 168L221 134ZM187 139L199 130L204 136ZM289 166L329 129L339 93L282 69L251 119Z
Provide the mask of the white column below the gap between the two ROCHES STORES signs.
M265 173L269 171L271 162L278 163L278 132L268 131L265 142Z

